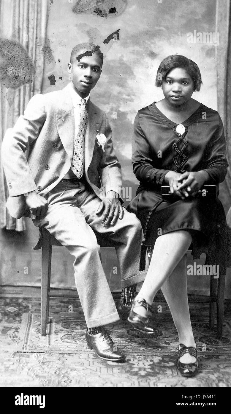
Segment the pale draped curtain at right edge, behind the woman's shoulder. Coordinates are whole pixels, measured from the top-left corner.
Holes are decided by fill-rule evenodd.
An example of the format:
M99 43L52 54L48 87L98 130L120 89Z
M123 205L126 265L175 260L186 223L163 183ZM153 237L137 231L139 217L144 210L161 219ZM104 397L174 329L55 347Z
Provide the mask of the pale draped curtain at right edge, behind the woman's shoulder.
M227 159L229 163L225 182L222 184L222 202L226 211L231 206L231 6L229 0L217 0L216 31L219 44L216 45L217 104L224 123Z

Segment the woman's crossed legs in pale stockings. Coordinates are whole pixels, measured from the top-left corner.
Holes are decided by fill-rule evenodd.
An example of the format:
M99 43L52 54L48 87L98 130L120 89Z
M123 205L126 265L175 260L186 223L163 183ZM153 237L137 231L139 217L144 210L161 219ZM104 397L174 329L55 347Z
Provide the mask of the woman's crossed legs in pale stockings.
M156 239L149 269L137 298L153 302L157 291L162 287L163 294L172 313L179 343L195 347L191 327L186 281L186 251L191 244L188 231L174 231ZM146 310L136 306L135 312L145 316ZM182 363L193 363L195 358L185 354Z

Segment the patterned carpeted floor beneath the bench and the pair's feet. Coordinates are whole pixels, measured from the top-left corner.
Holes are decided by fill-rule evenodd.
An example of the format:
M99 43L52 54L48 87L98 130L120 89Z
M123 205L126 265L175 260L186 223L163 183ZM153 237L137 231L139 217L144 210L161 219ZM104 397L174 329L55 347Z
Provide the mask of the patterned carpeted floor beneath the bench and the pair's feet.
M38 297L0 298L1 387L230 387L231 310L226 302L222 340L208 328L209 305L191 303L198 346L199 373L182 377L175 367L177 332L166 303L154 303L156 325L163 332L139 336L127 323L108 329L125 351L124 363L99 359L87 348L85 320L78 298L50 301L47 335L40 336Z

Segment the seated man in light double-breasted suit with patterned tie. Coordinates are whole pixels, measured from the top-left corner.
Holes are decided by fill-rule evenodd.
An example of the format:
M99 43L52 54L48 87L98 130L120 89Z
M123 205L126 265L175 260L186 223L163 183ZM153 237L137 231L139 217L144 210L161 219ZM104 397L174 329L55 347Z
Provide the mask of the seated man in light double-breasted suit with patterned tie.
M134 286L145 278L138 270L143 233L135 215L120 202L121 168L108 119L89 99L102 63L98 46L75 46L68 64L71 83L61 91L33 96L24 116L7 131L2 159L10 214L31 216L35 226L45 227L74 256L87 344L99 357L120 361L125 356L104 328L119 316L99 244L115 247L123 296L132 292L133 298Z

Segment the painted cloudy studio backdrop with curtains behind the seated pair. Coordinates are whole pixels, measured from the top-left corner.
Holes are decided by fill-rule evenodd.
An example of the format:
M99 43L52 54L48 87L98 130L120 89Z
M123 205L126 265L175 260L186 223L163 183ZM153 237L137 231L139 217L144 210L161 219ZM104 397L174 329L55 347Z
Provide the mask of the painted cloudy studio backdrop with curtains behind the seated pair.
M200 67L203 86L193 97L219 111L231 164L230 9L229 2L222 0L1 0L0 142L34 94L68 84L71 50L87 41L99 45L104 53L103 72L91 99L111 123L122 166L125 206L138 185L131 164L133 121L140 108L162 98L154 83L158 65L167 55L186 55ZM0 284L40 286L41 252L32 250L38 229L30 219L9 216L7 196L0 163ZM230 169L220 198L228 213ZM115 251L101 250L111 290L119 290ZM72 262L65 248L53 248L53 287L75 289ZM198 263L203 263L203 257ZM207 294L209 279L189 277L189 292ZM230 279L228 270L226 297L230 297Z

